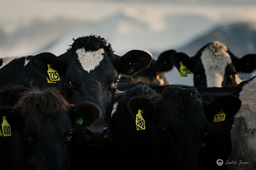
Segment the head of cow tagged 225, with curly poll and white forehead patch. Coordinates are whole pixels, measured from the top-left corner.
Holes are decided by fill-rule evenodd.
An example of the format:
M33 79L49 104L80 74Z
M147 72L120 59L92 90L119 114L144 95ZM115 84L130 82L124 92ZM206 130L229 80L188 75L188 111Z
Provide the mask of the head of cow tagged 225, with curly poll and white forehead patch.
M91 101L100 107L99 121L92 127L84 126L83 136L89 144L104 144L110 137L108 124L120 76L133 76L151 62L151 56L144 51L131 50L123 56L113 52L104 38L90 35L74 39L71 48L59 57L52 54L45 60L39 54L32 59L33 67L45 76L47 63L59 69L61 90L69 102Z

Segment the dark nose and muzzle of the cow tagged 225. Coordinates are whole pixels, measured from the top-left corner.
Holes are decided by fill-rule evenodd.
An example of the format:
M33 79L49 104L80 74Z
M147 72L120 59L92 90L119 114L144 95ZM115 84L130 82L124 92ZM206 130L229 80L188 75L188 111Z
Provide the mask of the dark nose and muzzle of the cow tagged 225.
M85 128L84 137L87 138L87 142L89 144L96 144L96 146L100 146L105 144L110 134L109 126L105 123L98 122L91 127Z

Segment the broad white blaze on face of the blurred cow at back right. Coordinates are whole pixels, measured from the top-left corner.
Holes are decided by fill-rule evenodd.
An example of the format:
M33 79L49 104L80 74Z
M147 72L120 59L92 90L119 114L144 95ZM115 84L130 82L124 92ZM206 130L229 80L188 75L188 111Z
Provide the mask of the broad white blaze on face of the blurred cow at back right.
M201 60L205 70L207 87L222 87L225 68L232 63L231 57L226 51L226 45L215 41L202 52Z

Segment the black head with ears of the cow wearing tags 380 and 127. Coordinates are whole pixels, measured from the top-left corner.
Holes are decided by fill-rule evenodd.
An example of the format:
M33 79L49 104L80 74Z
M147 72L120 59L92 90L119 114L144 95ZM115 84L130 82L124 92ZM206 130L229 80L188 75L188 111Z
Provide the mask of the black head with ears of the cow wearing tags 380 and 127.
M129 103L133 115L138 109L145 110L145 115L153 115L149 118L159 129L159 155L164 167L201 169L208 133L222 133L241 101L235 96L225 96L206 103L195 88L168 87L157 100L135 97ZM220 110L226 114L224 123L214 122Z

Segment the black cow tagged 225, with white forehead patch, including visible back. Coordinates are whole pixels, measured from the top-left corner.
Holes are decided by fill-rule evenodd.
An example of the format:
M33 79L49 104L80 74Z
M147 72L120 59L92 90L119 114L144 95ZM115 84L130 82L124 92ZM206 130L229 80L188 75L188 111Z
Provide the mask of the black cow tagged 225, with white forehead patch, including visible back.
M144 51L131 50L123 56L113 52L104 38L90 35L74 39L70 49L58 57L45 52L1 58L0 87L33 80L37 87L57 87L70 103L96 103L102 117L93 127L84 127L81 132L86 143L105 144L110 138L108 124L118 79L121 75L135 75L151 62L151 56ZM47 78L55 83L49 83ZM59 78L60 81L55 81Z

